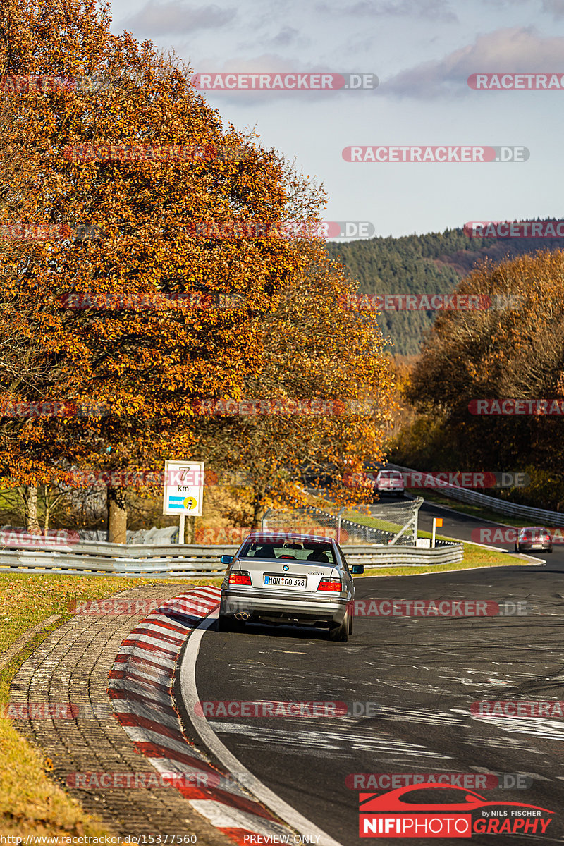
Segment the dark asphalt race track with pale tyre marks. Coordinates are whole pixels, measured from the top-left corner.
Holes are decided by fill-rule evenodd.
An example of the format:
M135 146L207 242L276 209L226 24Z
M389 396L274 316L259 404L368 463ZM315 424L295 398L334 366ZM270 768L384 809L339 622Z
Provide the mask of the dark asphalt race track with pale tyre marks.
M434 513L444 519L443 535L469 539L472 529L486 525L424 506L422 529ZM473 833L473 843L509 844L517 836L561 843L564 717L471 711L479 700L564 700L564 554L555 547L545 567L516 567L514 560L495 569L356 580L357 600L480 600L507 612L495 616L357 615L348 644L330 643L318 630L247 624L241 634L220 634L214 626L196 665L200 700L342 701L348 714L210 717L211 728L261 782L342 846L367 842L359 838L359 789L392 788L359 781L349 787L347 777L352 783L362 773L469 774L461 786L490 801L555 814L544 834ZM369 607L366 602L364 610ZM423 801L429 798L427 792ZM398 841L380 836L378 842Z

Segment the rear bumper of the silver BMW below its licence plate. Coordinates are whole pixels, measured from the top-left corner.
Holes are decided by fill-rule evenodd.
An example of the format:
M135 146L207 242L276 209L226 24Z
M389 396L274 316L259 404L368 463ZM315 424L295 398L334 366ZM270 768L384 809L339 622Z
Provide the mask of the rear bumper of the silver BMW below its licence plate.
M311 598L301 596L271 596L265 591L222 591L220 613L233 615L249 613L256 620L286 620L304 624L340 625L351 600L344 598Z

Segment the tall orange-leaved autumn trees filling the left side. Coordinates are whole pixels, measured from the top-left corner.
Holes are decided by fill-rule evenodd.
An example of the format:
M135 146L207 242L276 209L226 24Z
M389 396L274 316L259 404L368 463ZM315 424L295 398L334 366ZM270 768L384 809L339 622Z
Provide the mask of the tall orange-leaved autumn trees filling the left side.
M204 425L194 403L270 392L275 382L290 395L374 394L386 415L380 340L342 312L342 280L315 237L218 238L194 229L315 221L323 195L276 151L224 127L190 87L189 69L150 42L113 36L109 25L107 6L93 0L8 0L0 10L0 96L10 115L8 129L0 126L0 166L23 157L29 185L25 204L13 192L6 223L63 228L15 253L2 242L0 349L23 341L32 354L27 379L0 360L0 402L109 409L9 420L0 428L5 484L68 481L76 466L160 470L172 457L231 464L233 421ZM18 81L38 78L62 81ZM73 82L93 79L103 84ZM85 227L96 237L79 237ZM306 278L326 282L330 295L300 300ZM290 311L281 311L288 291ZM210 292L238 295L244 307L199 307ZM122 305L141 298L152 305ZM292 438L277 437L287 420L269 425L292 453ZM315 426L309 443L328 453L379 448L373 418L340 430L333 420ZM291 468L290 453L277 456L277 471ZM123 518L120 492L111 499ZM123 519L114 536L124 539Z

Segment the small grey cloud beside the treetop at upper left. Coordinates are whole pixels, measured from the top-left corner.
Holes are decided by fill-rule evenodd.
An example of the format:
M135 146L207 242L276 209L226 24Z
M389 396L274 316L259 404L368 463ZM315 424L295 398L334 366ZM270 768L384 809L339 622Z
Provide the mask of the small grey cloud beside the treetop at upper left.
M194 30L210 30L225 26L237 14L235 8L220 8L215 4L188 8L178 0L155 3L150 0L137 14L123 21L127 30L140 36L167 36Z

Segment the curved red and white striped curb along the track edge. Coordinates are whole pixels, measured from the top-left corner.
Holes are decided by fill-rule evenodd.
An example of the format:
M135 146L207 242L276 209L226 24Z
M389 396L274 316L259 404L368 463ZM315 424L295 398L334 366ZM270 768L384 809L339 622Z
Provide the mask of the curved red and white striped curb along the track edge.
M141 620L123 640L108 675L108 695L135 749L158 772L191 774L194 784L174 784L173 788L211 825L234 843L293 843L292 829L195 749L183 733L174 706L172 681L180 651L192 631L218 606L220 596L219 588L197 588L175 596ZM220 777L218 786L205 786L206 775Z

